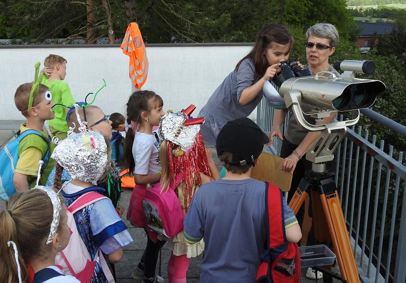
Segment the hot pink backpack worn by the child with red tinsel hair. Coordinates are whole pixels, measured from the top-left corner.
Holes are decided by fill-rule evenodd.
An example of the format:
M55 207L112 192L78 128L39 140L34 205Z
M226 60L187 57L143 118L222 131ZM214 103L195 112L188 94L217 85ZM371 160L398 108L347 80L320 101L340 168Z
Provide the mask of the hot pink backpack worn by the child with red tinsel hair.
M154 232L172 238L183 229L183 210L174 192L182 180L179 174L169 185L169 190L161 193L160 184L145 192L142 200L146 224Z

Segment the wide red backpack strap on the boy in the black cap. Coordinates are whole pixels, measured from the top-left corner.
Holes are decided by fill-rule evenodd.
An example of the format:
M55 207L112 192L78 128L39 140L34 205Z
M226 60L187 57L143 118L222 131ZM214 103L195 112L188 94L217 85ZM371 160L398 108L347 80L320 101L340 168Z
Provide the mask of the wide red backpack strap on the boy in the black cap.
M273 249L287 242L283 214L283 195L274 184L266 183L266 206L268 210L268 247Z

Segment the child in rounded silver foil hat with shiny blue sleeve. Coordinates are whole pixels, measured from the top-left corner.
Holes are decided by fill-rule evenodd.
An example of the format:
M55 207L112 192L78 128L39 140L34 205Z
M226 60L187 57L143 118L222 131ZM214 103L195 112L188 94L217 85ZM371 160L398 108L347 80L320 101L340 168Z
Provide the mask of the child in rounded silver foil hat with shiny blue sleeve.
M80 120L80 119L78 119ZM98 131L88 131L81 121L80 133L68 133L68 137L59 141L52 158L58 163L56 170L63 167L72 180L63 183L56 180L55 189L62 189L65 205L72 204L79 196L87 192L104 193L104 189L95 186L107 174L110 148L108 140ZM73 214L78 232L92 259L97 263L90 282L107 282L98 250L108 263L121 260L122 247L132 242L126 225L121 221L112 201L108 198L97 200Z

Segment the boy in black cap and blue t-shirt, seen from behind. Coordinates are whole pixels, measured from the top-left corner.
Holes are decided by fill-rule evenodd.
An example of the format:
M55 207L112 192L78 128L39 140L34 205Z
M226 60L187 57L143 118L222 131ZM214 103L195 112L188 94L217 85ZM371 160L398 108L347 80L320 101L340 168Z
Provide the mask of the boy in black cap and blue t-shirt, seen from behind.
M216 150L226 176L205 185L192 199L184 219L190 243L204 238L200 282L254 282L266 249L268 211L266 184L250 178L267 135L250 119L228 122L219 132ZM298 242L302 233L283 200L286 238Z

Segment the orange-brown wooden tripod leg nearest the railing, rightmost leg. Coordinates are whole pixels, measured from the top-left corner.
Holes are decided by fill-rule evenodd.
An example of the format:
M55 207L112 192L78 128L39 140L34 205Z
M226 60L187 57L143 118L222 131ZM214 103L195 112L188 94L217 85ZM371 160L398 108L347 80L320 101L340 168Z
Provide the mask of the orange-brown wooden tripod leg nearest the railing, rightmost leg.
M347 227L345 225L343 210L341 209L338 196L337 190L330 192L329 194L320 194L325 221L330 232L331 241L333 242L333 250L340 266L343 281L346 280L350 283L360 282L354 254L351 249L350 238L348 237Z

